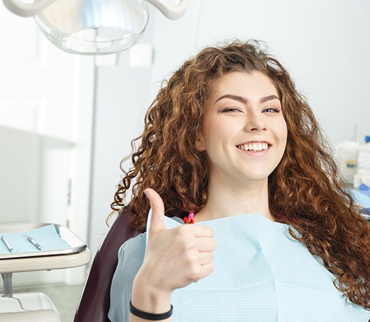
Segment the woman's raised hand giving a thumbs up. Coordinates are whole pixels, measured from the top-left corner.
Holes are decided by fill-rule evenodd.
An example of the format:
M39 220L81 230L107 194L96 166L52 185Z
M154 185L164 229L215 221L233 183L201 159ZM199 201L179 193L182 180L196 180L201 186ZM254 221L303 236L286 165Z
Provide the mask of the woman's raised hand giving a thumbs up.
M185 224L166 229L161 196L152 189L146 189L145 194L151 203L151 225L134 287L145 285L146 289L156 290L156 294L170 297L175 289L197 282L213 271L216 241L208 226Z

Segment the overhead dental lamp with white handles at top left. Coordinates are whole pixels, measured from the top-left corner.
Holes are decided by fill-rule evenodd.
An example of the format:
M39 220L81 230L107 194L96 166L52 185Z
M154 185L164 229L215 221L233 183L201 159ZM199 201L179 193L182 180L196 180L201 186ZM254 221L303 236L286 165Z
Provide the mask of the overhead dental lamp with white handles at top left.
M112 54L135 45L149 20L146 1L167 18L181 18L187 0L3 0L18 16L34 16L42 33L57 47L76 54Z

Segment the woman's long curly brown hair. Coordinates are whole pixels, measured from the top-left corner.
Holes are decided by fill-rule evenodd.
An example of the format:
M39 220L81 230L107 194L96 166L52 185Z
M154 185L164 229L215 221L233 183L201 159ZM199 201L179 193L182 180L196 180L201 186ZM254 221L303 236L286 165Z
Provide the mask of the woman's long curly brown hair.
M130 224L144 231L150 207L146 188L161 195L168 217L183 218L204 206L209 161L204 151L197 151L195 142L212 84L231 71L260 71L269 76L284 108L288 139L282 161L269 176L271 213L277 221L294 227L291 236L322 260L335 275L337 289L370 309L369 224L359 215L306 99L261 42L233 40L206 47L163 82L146 113L143 133L132 140L133 166L129 171L121 166L124 176L112 209L125 206L132 186Z

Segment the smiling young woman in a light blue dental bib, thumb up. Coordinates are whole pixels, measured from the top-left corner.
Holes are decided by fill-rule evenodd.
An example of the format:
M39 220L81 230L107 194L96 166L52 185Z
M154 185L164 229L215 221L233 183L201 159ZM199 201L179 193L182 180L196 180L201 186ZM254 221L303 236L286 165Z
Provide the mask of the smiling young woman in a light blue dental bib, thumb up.
M143 234L120 248L111 321L369 321L369 225L258 42L187 60L136 141L112 208L132 187Z

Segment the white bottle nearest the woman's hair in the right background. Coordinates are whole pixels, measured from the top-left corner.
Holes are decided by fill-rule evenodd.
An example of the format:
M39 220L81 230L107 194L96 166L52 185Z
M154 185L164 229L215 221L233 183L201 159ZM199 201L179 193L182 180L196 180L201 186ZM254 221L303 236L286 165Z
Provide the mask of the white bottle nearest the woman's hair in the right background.
M337 144L340 172L349 185L353 185L354 175L357 173L357 155L359 142L345 141Z

